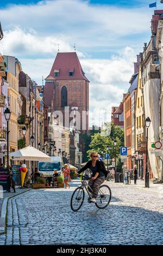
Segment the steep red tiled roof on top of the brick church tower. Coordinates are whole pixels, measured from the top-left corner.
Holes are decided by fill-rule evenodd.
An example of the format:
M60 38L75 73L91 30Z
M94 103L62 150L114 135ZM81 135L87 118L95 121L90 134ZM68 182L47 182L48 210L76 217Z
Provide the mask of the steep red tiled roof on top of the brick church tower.
M54 70L59 70L59 76L54 76ZM74 71L73 76L69 75L70 70ZM84 79L89 82L76 52L58 52L49 75L57 80Z

